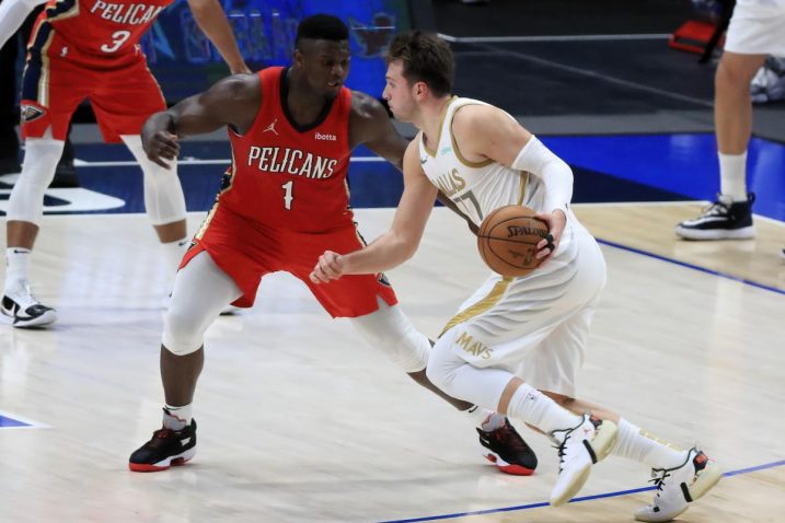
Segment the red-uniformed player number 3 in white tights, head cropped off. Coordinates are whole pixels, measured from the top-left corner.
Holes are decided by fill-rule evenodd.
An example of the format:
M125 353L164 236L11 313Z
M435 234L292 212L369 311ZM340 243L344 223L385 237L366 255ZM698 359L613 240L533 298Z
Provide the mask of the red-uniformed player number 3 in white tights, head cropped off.
M0 3L0 46L46 0ZM38 233L44 191L55 175L68 124L89 98L107 142L126 143L145 175L145 206L172 268L186 241L185 199L176 172L149 161L139 130L166 108L138 45L173 0L49 0L31 35L22 86L22 174L9 201L5 287L0 311L14 327L41 327L57 318L31 292L28 265ZM233 73L250 72L217 0L188 0L199 27Z

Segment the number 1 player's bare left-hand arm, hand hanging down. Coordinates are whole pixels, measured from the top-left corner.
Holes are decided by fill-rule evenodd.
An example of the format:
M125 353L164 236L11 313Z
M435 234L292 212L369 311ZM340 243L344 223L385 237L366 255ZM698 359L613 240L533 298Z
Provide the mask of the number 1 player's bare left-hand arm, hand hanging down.
M178 138L212 132L224 126L232 126L242 135L251 128L261 104L258 75L224 78L207 91L148 118L141 128L147 158L170 168L166 162L180 153Z

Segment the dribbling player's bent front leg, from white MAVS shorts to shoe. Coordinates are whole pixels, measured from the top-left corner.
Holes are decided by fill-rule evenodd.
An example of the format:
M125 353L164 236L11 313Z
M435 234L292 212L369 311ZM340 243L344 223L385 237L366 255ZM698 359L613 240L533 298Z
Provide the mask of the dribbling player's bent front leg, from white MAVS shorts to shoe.
M580 256L577 252L580 251ZM559 325L588 307L601 292L605 267L596 242L574 224L563 235L562 258L536 278L490 277L448 323L428 361L428 377L451 396L520 419L549 434L561 458L551 504L567 502L589 477L591 465L613 445L616 426L589 414L575 415L513 372ZM557 258L558 260L558 258ZM532 365L535 376L568 388L568 372Z

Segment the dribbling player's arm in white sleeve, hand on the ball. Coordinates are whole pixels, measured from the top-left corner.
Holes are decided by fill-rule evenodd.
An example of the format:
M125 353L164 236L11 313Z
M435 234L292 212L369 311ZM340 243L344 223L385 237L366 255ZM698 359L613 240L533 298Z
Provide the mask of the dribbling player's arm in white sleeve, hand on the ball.
M469 160L490 159L516 171L526 171L545 185L546 212L536 217L549 225L549 236L538 244L543 263L558 248L573 198L573 171L510 115L492 105L469 105L455 113L452 131Z

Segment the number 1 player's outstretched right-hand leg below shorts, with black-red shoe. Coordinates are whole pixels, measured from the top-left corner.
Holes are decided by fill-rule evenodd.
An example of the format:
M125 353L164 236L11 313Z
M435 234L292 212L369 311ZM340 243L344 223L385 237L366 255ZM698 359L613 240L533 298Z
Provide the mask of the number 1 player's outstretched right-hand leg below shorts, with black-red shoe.
M434 385L426 365L434 345L418 332L399 305L379 299L379 310L349 321L371 347L380 348L391 361L423 387L441 397L475 423L483 455L506 474L529 476L536 468L536 455L509 420L497 412L457 399Z

